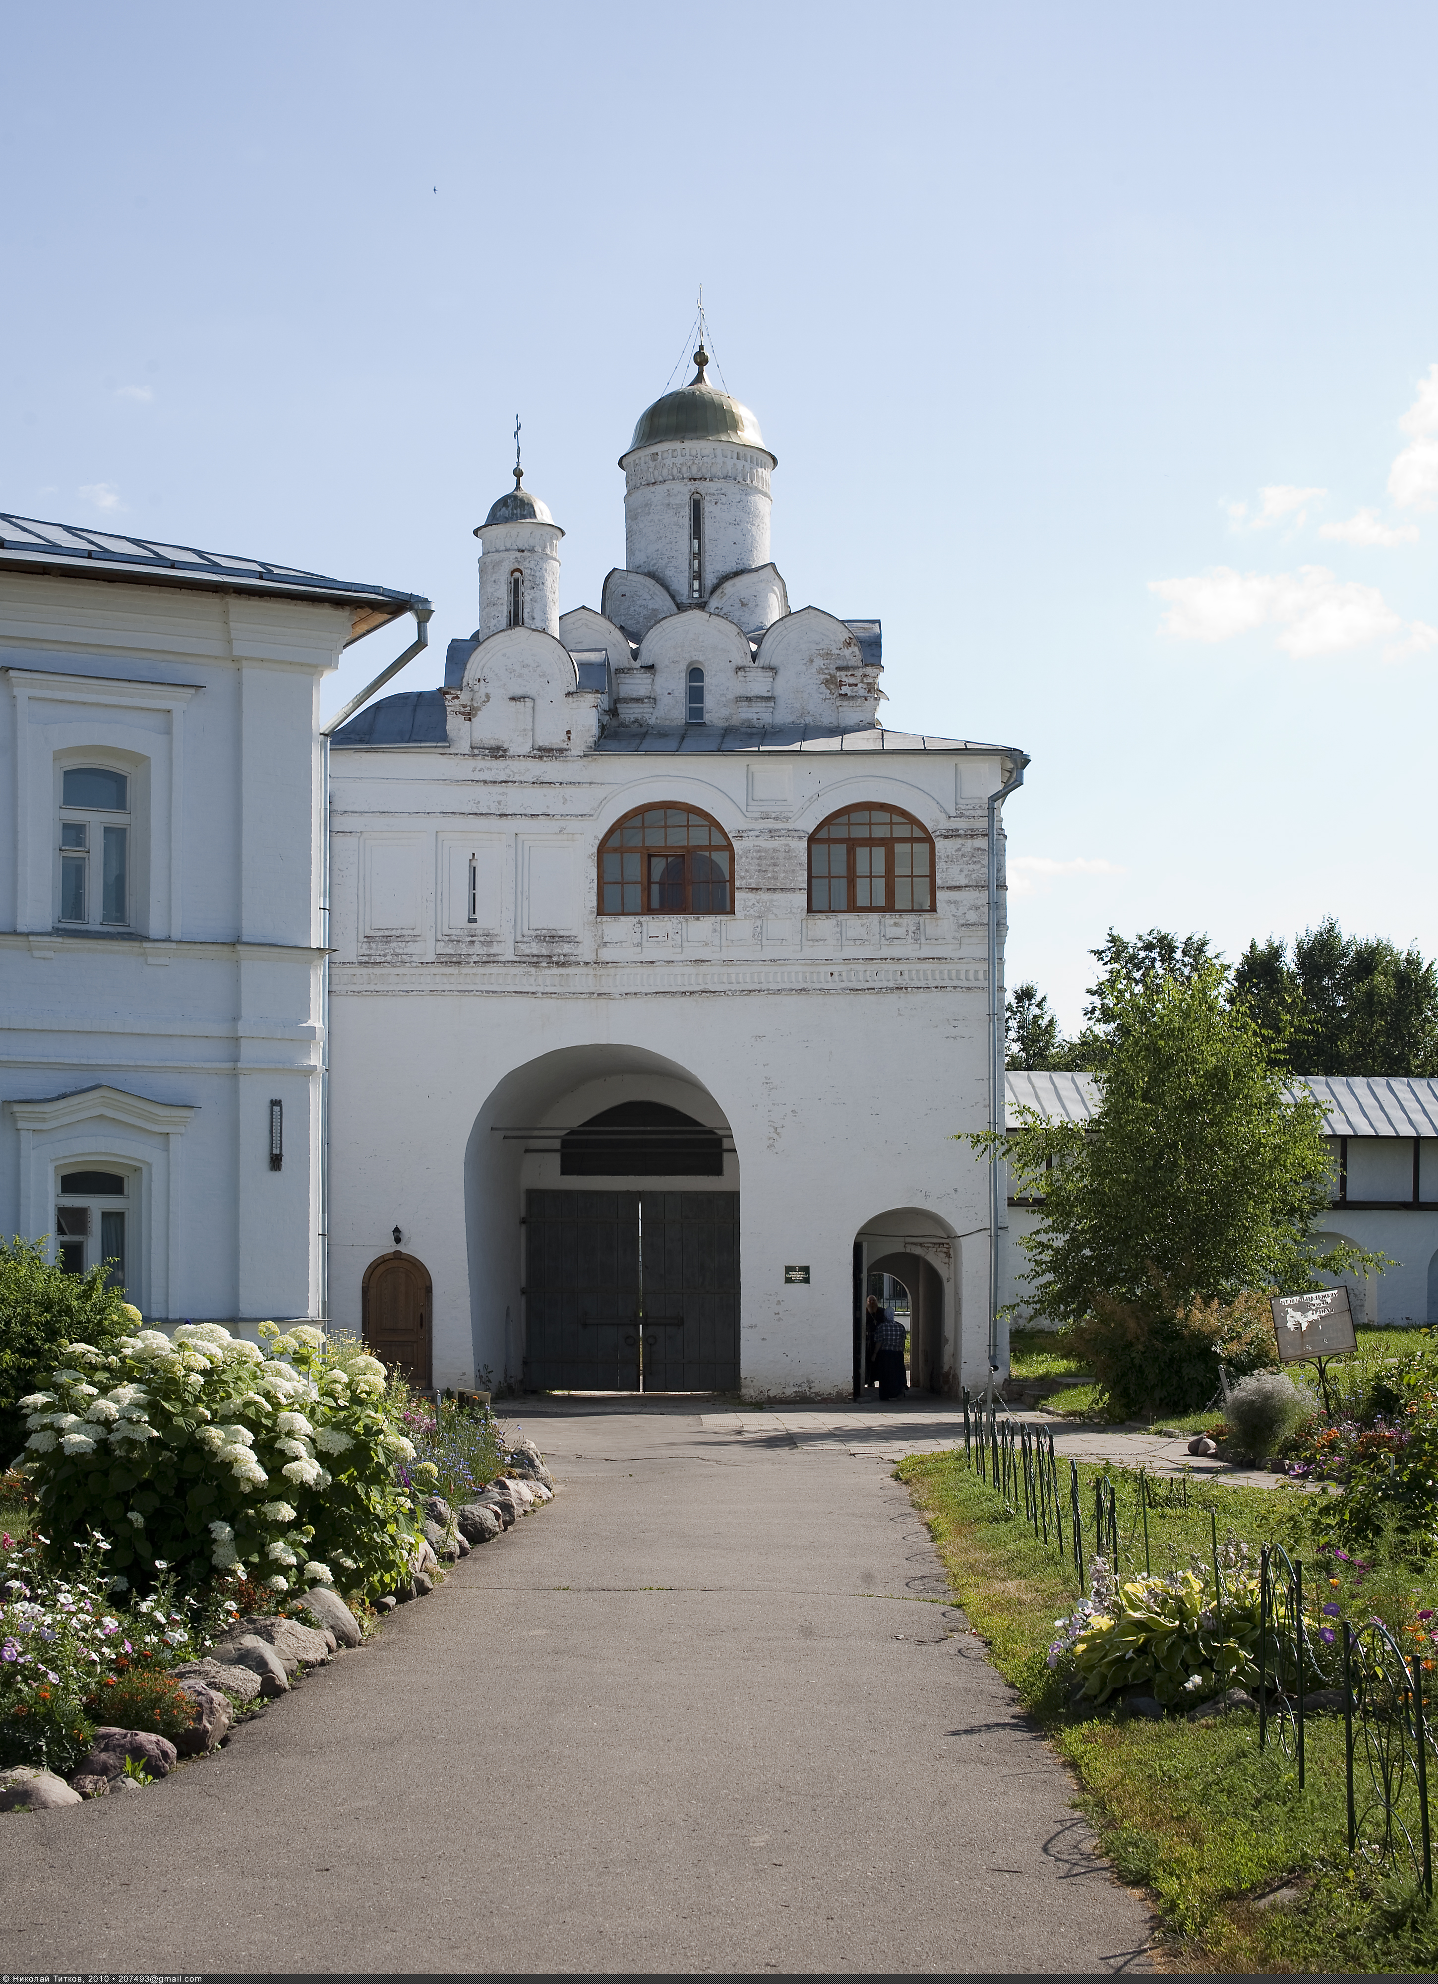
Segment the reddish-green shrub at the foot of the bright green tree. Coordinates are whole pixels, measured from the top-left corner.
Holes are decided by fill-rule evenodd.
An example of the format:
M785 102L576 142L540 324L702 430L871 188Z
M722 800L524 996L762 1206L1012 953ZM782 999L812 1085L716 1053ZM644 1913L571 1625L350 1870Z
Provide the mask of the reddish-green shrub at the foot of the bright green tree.
M1277 1363L1269 1296L1174 1302L1162 1286L1138 1302L1099 1296L1095 1313L1061 1331L1093 1371L1117 1419L1198 1413L1218 1391L1218 1365L1238 1377Z

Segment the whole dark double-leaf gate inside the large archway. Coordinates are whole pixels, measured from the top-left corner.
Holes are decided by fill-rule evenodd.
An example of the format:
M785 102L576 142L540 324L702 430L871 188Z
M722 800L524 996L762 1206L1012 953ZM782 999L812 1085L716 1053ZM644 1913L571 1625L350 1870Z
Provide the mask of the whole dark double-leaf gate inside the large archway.
M528 1389L738 1391L738 1192L526 1192Z

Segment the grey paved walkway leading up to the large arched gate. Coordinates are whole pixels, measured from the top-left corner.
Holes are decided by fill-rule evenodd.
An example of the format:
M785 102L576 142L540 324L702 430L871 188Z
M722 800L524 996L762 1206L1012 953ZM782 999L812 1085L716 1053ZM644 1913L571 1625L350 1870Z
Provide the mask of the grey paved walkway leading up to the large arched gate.
M4 1968L1148 1968L875 1464L952 1428L736 1417L526 1411L551 1508L218 1758L0 1819Z

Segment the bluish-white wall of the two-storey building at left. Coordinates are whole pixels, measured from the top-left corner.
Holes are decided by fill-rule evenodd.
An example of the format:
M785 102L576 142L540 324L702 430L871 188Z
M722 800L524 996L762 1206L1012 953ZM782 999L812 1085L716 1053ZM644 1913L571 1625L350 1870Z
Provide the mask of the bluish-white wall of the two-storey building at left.
M157 1321L319 1307L315 724L347 635L339 607L115 567L0 575L0 1228L48 1234L61 1169L131 1171ZM65 762L131 774L123 932L56 929Z

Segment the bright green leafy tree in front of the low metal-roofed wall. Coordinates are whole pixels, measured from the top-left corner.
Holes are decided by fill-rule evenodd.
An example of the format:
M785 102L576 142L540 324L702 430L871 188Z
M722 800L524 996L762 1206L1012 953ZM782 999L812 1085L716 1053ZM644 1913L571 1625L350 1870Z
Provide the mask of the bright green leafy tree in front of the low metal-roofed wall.
M1103 1327L1107 1315L1138 1345L1138 1369L1144 1319L1158 1359L1158 1325L1182 1333L1202 1303L1380 1266L1349 1242L1327 1252L1313 1242L1331 1194L1323 1113L1287 1093L1261 1028L1228 1002L1228 980L1200 944L1180 946L1172 968L1162 954L1115 956L1095 994L1111 1038L1097 1113L1079 1125L1025 1109L1006 1139L1014 1188L1041 1200L1021 1242L1033 1307L1059 1323ZM1214 1369L1222 1331L1208 1337ZM1148 1397L1162 1395L1154 1371Z

